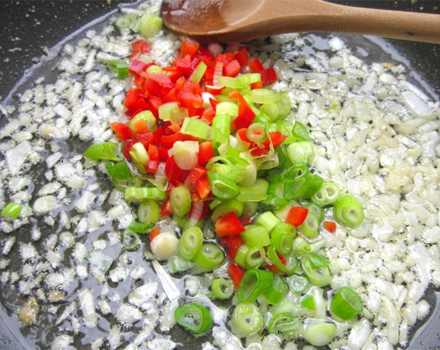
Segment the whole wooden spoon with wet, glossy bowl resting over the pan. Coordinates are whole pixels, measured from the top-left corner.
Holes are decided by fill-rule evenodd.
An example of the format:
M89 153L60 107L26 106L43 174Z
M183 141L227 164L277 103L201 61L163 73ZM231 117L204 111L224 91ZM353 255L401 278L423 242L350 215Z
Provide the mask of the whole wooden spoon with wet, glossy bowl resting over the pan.
M205 42L293 32L369 34L440 44L440 15L343 6L323 0L164 0L165 25Z

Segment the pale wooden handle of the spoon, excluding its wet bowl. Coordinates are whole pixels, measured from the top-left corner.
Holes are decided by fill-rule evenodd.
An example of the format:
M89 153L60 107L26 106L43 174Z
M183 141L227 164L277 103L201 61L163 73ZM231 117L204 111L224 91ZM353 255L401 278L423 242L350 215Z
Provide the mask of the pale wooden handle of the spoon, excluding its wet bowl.
M251 0L240 1L244 4ZM261 21L254 16L260 16ZM238 35L232 33L235 24L231 23L220 39L238 37L244 41L281 33L325 31L440 44L440 15L344 6L323 0L263 0L254 14L237 25Z

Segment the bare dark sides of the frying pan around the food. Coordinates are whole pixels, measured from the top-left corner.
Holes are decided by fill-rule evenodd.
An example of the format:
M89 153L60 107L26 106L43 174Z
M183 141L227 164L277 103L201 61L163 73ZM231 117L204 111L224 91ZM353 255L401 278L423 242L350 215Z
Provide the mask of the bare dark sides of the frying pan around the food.
M239 1L239 0L238 0ZM127 1L0 1L0 103L15 84L26 74L40 57L78 28L110 11L116 11ZM424 11L439 13L440 1L428 0L351 0L331 2L362 7ZM392 18L390 18L392 21ZM407 59L414 72L410 76L426 81L433 95L440 95L440 45L386 40L387 46ZM43 56L44 57L44 56ZM417 72L417 73L416 73ZM417 74L420 74L417 76ZM438 98L438 97L437 97ZM440 349L440 293L430 290L427 298L433 305L429 320L418 329L409 349ZM1 301L0 301L1 302ZM16 318L9 317L0 303L0 349L32 349L19 332Z

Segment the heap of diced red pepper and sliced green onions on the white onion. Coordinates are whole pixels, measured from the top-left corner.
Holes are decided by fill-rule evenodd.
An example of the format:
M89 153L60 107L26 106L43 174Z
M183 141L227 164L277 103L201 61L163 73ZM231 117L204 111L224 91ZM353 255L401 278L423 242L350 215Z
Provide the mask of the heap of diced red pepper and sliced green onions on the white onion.
M165 67L151 61L149 52L147 41L139 40L129 63L109 63L117 78L130 74L135 85L124 100L128 122L110 125L123 142L122 155L116 144L104 143L90 146L85 156L108 161L116 188L138 203L137 221L124 232L125 249L139 249L139 237L149 234L155 258L172 259L171 273L226 264L230 280L213 280L213 298L231 298L236 289L235 329L241 335L259 332L264 322L257 298L264 295L276 305L288 289L302 293L309 283L330 284L324 240L316 238L320 225L330 233L337 225L323 221L323 207L333 206L334 220L352 227L363 221L362 206L315 173L307 128L292 121L290 98L269 87L277 81L275 70L250 59L246 47L214 55L186 38ZM177 222L180 237L161 231L166 216ZM206 227L213 227L217 239L204 240ZM305 294L301 306L316 310L314 298ZM288 307L280 310L269 332L296 338L300 323ZM331 298L336 320L362 310L348 286ZM197 302L180 306L175 317L194 334L213 328L209 310ZM330 343L336 326L329 322L315 323L304 339Z

